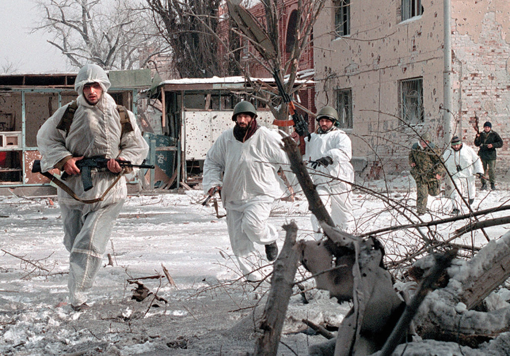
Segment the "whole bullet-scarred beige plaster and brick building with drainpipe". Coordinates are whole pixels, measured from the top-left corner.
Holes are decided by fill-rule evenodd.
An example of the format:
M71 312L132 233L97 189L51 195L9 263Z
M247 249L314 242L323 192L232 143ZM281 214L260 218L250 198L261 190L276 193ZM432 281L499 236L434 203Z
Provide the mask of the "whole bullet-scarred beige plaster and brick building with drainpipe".
M503 138L508 178L509 11L504 0L328 1L314 27L317 106L337 108L367 176L409 170L424 131L474 147L476 112Z

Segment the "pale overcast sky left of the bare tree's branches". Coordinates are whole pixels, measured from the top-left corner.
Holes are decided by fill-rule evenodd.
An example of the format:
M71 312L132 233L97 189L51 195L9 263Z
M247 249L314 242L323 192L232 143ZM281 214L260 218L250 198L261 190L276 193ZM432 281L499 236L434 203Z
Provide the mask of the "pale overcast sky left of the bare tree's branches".
M30 34L41 18L32 0L2 0L0 4L0 74L6 63L13 63L16 73L69 71L65 57L46 42L52 35Z

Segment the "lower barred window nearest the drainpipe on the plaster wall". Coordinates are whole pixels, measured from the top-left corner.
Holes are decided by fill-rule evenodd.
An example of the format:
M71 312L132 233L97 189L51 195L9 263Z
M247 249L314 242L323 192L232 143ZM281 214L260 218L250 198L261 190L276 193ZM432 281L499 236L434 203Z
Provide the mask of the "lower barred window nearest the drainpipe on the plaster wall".
M423 78L400 81L400 112L410 124L423 122Z

